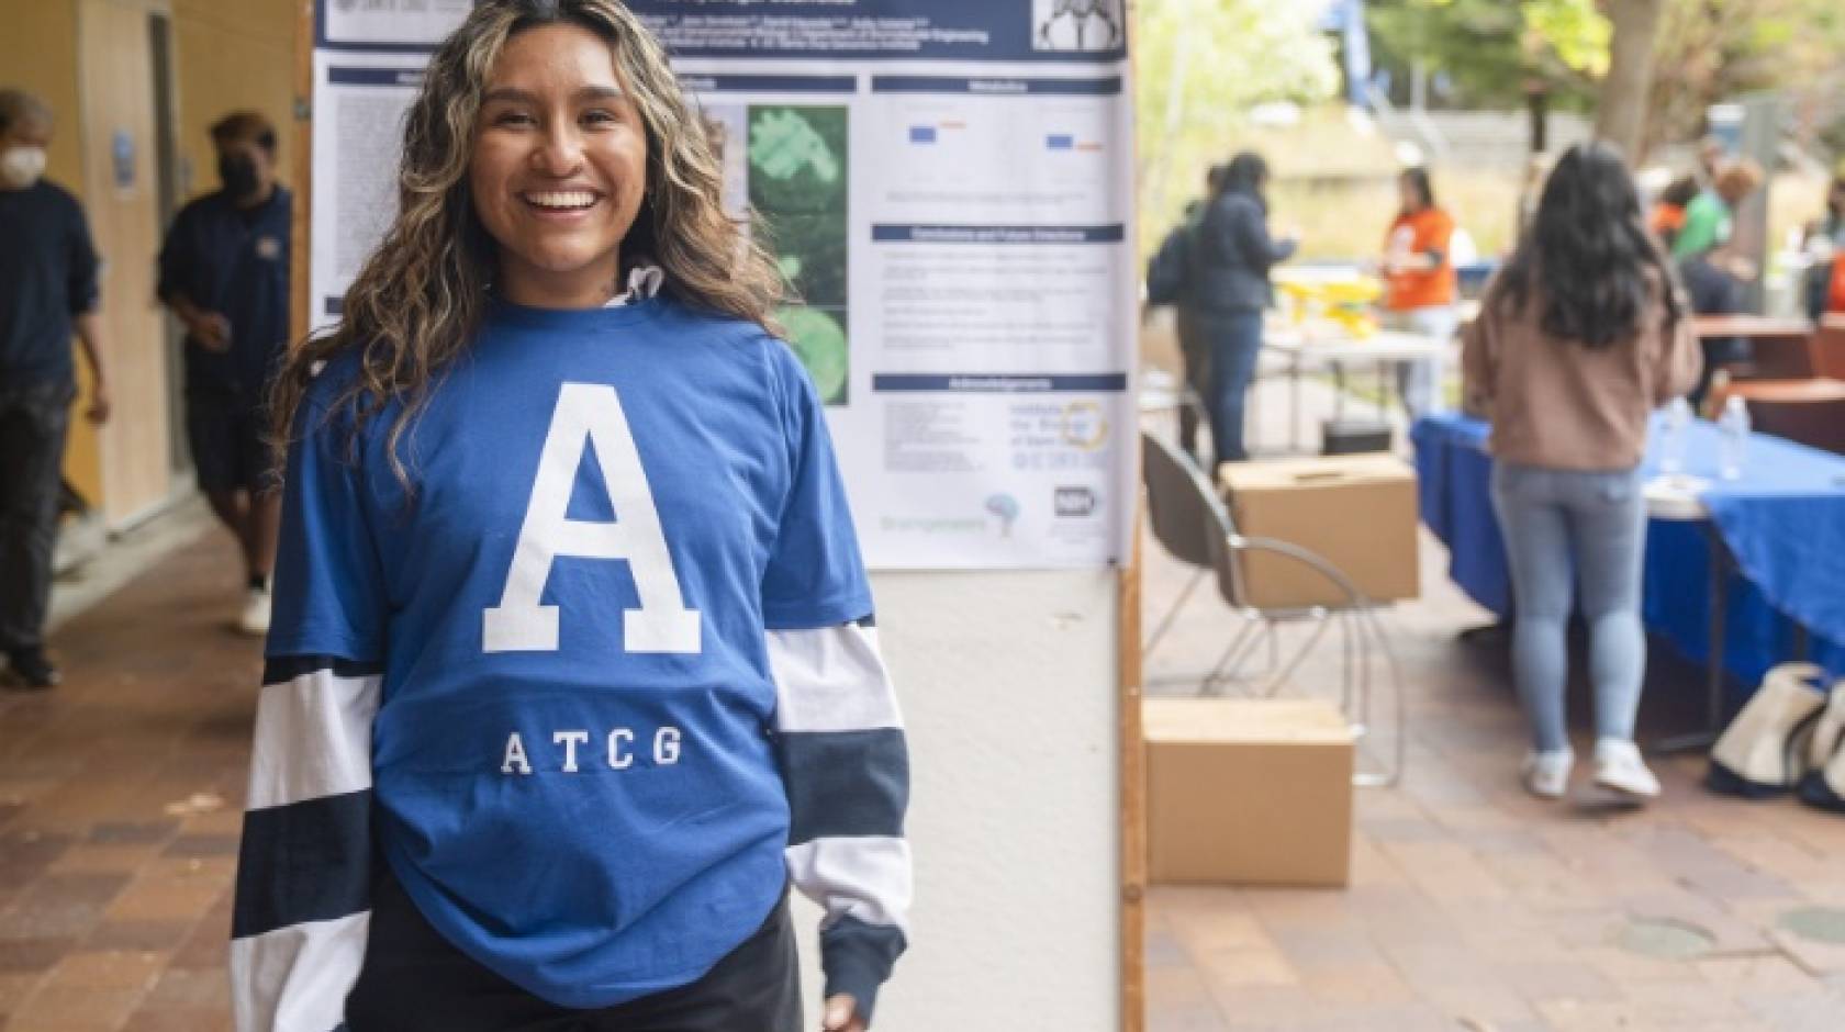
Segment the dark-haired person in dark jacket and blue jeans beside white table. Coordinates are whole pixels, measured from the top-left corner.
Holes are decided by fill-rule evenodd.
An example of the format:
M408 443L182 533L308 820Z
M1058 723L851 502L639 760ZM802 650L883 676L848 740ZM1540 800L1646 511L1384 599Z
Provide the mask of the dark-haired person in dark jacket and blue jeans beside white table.
M1205 415L1218 463L1247 459L1244 402L1262 354L1262 311L1273 302L1269 267L1293 254L1293 240L1268 232L1268 162L1242 151L1223 166L1197 223L1192 278L1181 306L1207 356Z

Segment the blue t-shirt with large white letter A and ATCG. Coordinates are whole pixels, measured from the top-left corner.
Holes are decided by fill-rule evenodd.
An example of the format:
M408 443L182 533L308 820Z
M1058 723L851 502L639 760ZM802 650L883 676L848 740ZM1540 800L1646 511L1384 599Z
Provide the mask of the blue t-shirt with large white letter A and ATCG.
M290 452L271 656L384 667L378 837L445 938L531 993L699 979L780 899L764 628L871 612L812 383L666 297L493 304L404 435L315 381Z

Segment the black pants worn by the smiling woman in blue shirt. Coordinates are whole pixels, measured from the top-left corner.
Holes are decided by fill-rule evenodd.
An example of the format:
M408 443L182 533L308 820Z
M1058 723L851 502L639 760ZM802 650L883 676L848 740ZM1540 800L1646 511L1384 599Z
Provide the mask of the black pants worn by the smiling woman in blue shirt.
M786 899L697 982L603 1010L566 1010L450 945L387 868L375 879L365 964L347 997L351 1032L801 1032L801 968Z

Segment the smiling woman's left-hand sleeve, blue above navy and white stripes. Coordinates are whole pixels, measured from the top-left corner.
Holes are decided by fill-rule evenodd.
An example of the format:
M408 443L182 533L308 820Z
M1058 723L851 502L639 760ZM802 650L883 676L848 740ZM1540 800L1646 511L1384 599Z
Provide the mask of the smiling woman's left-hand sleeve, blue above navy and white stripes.
M371 912L382 575L358 470L325 420L306 426L284 477L231 921L238 1032L339 1028Z

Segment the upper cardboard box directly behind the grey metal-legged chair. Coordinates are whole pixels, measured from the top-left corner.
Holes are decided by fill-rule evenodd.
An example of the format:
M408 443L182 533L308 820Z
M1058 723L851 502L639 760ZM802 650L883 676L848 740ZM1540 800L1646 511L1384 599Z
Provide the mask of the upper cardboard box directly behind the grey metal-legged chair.
M1352 579L1375 603L1421 592L1415 470L1395 455L1258 459L1218 466L1236 531L1301 545ZM1273 553L1240 553L1249 604L1339 606L1330 580Z

